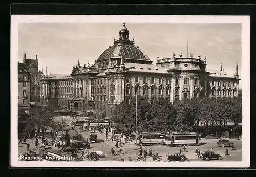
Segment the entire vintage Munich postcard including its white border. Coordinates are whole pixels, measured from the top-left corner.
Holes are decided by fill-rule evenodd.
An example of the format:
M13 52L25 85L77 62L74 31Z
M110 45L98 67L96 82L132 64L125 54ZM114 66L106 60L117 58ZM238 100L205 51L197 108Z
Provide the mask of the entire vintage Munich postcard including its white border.
M248 167L249 16L11 16L11 166Z

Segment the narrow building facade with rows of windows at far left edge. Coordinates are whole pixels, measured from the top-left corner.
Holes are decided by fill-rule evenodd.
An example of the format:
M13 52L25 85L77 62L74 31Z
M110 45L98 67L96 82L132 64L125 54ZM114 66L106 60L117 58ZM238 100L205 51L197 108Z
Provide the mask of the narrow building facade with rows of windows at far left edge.
M18 62L18 109L29 114L31 75L25 64Z

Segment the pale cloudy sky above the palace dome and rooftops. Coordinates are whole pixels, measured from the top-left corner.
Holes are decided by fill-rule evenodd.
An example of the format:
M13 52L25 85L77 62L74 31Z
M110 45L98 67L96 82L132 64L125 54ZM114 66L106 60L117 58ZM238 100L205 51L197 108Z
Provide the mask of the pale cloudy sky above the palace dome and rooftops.
M100 54L119 38L122 23L20 23L18 25L18 61L23 53L35 59L48 74L71 74L77 61L94 64ZM241 78L241 24L126 23L130 40L155 64L157 56L172 57L190 52L206 56L207 69L232 74L238 62ZM187 42L188 38L188 42Z

